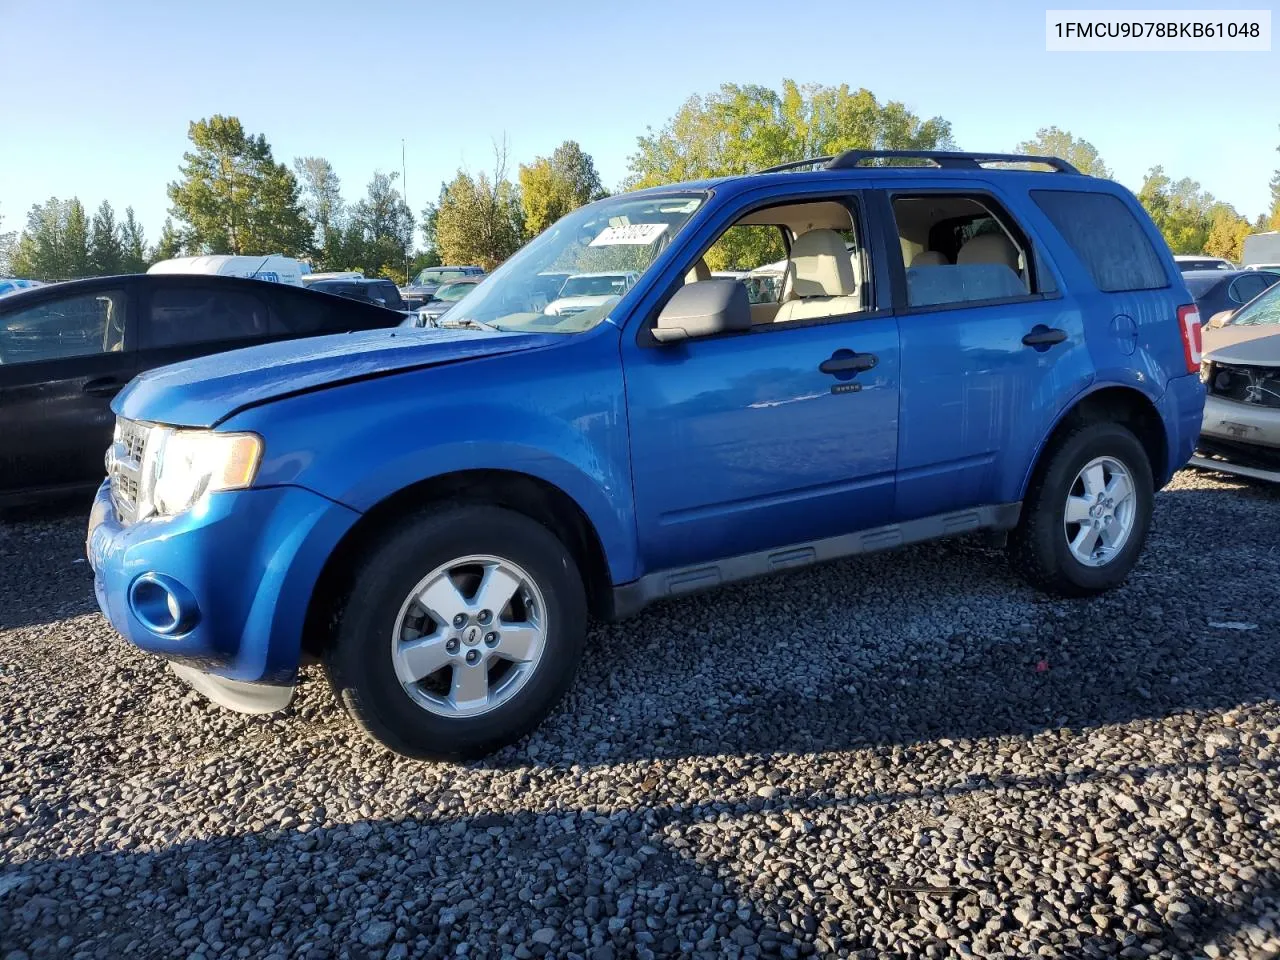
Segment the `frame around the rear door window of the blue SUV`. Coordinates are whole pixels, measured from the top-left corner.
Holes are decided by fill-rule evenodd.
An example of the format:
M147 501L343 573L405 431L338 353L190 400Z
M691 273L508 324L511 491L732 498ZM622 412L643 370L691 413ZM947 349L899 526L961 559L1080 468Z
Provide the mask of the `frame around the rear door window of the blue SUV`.
M896 315L936 314L943 310L973 310L977 307L992 307L1006 303L1033 303L1046 300L1061 300L1061 283L1053 276L1048 259L1044 256L1038 237L1033 234L1025 224L1019 220L1010 204L998 196L991 187L983 183L980 187L964 186L882 186L876 189L879 195L878 209L881 220L882 243L884 244L884 259L888 261L890 284L893 292L893 312ZM1001 223L1005 230L1010 227L1018 230L1015 239L1023 247L1027 260L1025 270L1036 288L1032 293L1016 297L993 297L988 300L959 300L947 303L924 303L911 306L906 289L906 262L901 253L900 234L897 232L897 216L893 214L893 200L897 197L927 197L927 196L960 196L970 197L984 206L988 212L1000 221L1000 214L1007 218L1009 223ZM1047 275L1053 289L1044 291L1043 276Z

